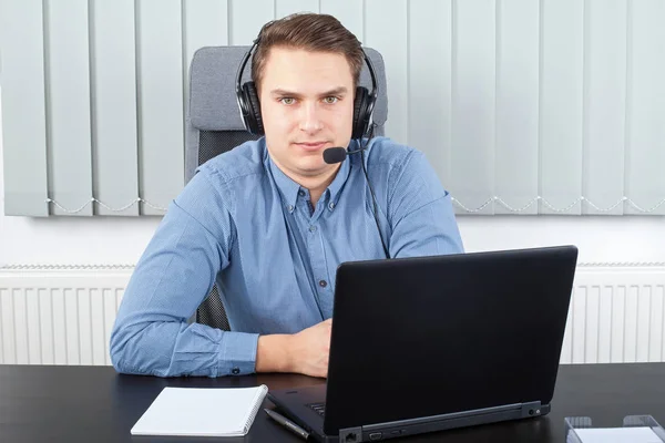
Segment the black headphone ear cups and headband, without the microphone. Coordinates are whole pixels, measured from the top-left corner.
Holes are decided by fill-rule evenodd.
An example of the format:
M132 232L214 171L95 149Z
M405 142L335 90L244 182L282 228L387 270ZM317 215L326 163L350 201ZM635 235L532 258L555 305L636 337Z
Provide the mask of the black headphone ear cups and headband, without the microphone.
M269 24L269 23L268 23ZM263 29L265 29L268 24L266 24ZM245 82L242 84L243 72L245 71L245 65L249 61L253 51L260 42L262 32L259 32L256 40L252 44L252 48L241 62L238 68L238 73L236 75L236 99L238 102L238 107L241 109L241 116L243 119L243 124L245 125L245 130L250 132L254 135L265 135L263 119L260 116L260 103L258 101L258 93L256 90L256 84L253 81ZM368 91L367 87L357 86L356 87L356 97L354 99L354 126L351 131L351 138L361 140L364 136L368 135L369 130L372 125L372 114L375 104L377 102L378 92L378 82L377 76L374 70L374 65L371 64L371 60L367 56L367 53L362 48L362 56L365 59L365 63L369 69L369 75L371 76L371 91Z

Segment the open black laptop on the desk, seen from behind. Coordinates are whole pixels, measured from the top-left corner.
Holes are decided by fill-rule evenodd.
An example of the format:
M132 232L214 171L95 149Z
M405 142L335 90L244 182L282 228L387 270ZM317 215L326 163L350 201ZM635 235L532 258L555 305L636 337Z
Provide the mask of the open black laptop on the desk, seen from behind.
M344 262L325 384L268 392L320 442L550 412L577 248Z

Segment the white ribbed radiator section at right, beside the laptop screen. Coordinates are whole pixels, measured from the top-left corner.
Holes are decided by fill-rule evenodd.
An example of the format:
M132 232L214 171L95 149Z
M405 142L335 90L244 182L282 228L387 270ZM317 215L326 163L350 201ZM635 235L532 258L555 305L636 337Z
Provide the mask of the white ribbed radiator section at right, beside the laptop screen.
M663 264L580 266L562 363L665 361Z

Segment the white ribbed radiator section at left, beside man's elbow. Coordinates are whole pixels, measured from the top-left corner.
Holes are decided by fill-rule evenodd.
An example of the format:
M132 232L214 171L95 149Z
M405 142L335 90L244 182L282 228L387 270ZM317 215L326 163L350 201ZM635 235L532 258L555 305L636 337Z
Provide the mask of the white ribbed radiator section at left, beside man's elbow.
M0 269L0 363L111 364L131 267Z

